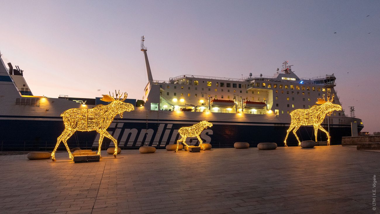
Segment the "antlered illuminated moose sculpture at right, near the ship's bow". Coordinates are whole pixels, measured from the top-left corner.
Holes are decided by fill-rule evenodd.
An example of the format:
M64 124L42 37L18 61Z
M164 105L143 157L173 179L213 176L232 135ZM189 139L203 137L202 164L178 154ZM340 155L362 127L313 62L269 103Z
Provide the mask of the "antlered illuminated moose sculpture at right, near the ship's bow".
M314 126L315 141L317 141L317 131L318 129L320 129L321 131L327 134L327 145L330 145L330 135L324 128L322 128L321 123L325 119L326 114L331 114L335 110L341 111L342 106L332 104L334 94L332 94L331 100L329 99L330 94L327 94L327 101L325 101L325 94L323 94L323 99L318 98L318 101L315 102L316 104L321 105L313 105L310 109L296 109L290 112L291 123L285 137L285 146L287 146L286 139L288 138L288 134L293 128L293 134L297 138L298 145L301 145L301 141L299 141L296 131L299 129L300 126L308 125Z

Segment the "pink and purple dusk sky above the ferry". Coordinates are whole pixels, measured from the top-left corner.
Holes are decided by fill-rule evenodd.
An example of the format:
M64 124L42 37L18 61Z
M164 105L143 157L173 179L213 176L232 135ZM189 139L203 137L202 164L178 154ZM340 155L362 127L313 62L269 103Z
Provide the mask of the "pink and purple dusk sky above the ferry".
M0 51L38 96L141 99L145 46L155 80L183 74L336 76L343 109L380 131L380 1L7 1ZM335 33L336 32L336 33ZM100 91L98 91L100 89Z

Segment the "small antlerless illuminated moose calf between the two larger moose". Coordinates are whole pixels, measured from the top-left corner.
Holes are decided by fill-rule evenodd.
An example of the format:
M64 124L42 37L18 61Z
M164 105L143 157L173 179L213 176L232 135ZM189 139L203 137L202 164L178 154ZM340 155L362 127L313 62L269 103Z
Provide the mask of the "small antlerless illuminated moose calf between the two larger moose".
M201 146L203 141L202 141L201 137L199 137L199 134L201 134L201 132L204 129L206 129L207 126L211 127L212 123L209 123L208 121L204 120L204 121L200 121L199 123L196 123L192 126L182 127L180 129L178 129L178 133L181 135L182 138L177 141L177 149L174 152L178 151L178 145L179 145L178 143L179 142L182 141L182 143L187 145L185 142L187 137L197 137L199 140L199 146ZM202 148L204 150L203 145L202 145Z

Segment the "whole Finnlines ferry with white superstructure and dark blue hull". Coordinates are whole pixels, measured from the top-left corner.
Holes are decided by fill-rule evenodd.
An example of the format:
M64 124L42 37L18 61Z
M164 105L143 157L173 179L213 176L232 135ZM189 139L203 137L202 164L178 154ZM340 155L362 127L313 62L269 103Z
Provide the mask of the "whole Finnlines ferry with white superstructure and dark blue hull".
M334 95L333 103L341 104L337 96L334 74L315 78L299 78L288 61L273 76L252 73L244 78L179 75L168 80L154 80L141 38L148 83L142 100L126 99L135 110L119 115L108 128L122 149L136 149L142 145L164 149L180 138L178 129L202 120L213 124L200 137L214 148L233 147L234 142L248 142L255 147L260 142L284 145L290 126L290 112L309 109L323 94ZM1 150L51 151L64 129L60 114L67 109L91 109L100 100L60 96L57 98L34 96L19 67L0 57L0 144ZM127 91L128 89L124 89ZM100 94L101 95L101 94ZM345 111L334 111L326 116L323 128L331 135L331 145L340 144L344 136L351 136L351 123L358 132L363 129L359 118L348 117ZM301 126L297 131L302 140L315 140L313 126ZM70 148L97 148L99 136L95 131L76 132L69 140ZM325 133L318 131L317 141L327 141ZM189 145L198 139L188 138ZM298 144L290 134L289 146ZM104 148L103 148L104 145ZM102 149L113 147L104 139ZM59 149L65 147L60 145Z

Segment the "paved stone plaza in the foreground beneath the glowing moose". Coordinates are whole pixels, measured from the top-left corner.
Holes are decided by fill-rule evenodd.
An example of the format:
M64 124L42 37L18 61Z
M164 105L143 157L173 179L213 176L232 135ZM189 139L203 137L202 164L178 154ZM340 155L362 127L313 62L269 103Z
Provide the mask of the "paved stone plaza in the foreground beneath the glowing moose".
M67 160L57 153L57 161ZM378 213L380 153L355 147L102 151L94 163L0 157L0 213ZM122 157L122 158L121 158ZM380 188L377 196L380 197ZM377 200L378 201L378 200Z

